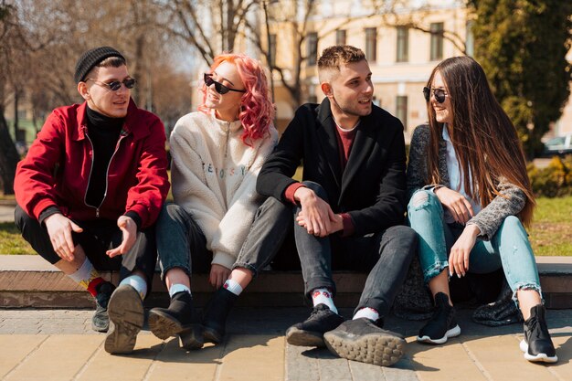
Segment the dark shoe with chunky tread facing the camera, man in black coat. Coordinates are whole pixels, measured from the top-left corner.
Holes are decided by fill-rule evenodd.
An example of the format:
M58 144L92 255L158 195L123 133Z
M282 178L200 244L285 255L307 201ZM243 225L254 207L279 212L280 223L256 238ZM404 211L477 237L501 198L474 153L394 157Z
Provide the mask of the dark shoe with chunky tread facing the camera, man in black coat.
M381 329L366 318L340 324L334 331L324 333L323 341L334 355L381 366L397 363L404 355L406 343L400 334Z

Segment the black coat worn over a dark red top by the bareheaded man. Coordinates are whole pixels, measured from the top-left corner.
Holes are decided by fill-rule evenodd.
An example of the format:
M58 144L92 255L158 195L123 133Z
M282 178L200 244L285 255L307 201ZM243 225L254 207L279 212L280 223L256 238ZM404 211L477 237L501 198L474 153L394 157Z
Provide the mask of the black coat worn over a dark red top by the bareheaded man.
M406 210L406 154L403 125L373 106L361 118L344 172L336 126L325 98L295 113L280 143L262 166L257 191L287 203L284 192L303 163L302 180L323 186L334 213L348 213L354 234L364 236L403 223Z

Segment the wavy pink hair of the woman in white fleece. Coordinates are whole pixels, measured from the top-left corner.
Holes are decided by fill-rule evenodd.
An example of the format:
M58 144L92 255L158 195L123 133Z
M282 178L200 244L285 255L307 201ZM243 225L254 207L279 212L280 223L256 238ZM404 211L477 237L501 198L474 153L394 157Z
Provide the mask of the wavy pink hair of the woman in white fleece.
M241 106L238 119L244 127L242 142L255 142L268 135L270 124L274 119L274 105L270 100L270 91L264 69L260 63L244 54L221 54L215 57L215 62L210 66L210 71L217 69L222 62L230 62L237 67L238 76L246 92L240 99ZM203 84L201 89L203 102L198 106L198 111L210 112L205 101L207 100L207 86Z

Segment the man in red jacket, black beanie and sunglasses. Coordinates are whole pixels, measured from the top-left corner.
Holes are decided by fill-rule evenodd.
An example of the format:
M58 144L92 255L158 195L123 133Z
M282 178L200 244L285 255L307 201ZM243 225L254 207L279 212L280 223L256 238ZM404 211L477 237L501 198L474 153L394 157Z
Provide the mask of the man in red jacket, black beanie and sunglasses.
M143 326L169 189L164 126L132 101L135 79L114 48L85 52L75 81L85 101L54 110L17 166L16 225L94 296L93 329L109 330L107 352L125 354ZM98 270L120 270L117 289Z

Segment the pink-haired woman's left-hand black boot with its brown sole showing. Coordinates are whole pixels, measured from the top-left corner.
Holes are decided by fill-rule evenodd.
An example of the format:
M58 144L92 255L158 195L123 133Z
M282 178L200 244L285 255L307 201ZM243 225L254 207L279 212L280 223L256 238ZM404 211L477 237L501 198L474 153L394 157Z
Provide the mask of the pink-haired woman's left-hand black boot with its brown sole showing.
M185 349L202 348L205 344L200 317L193 308L193 298L186 291L173 295L169 308L149 311L149 329L161 340L178 335Z

